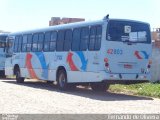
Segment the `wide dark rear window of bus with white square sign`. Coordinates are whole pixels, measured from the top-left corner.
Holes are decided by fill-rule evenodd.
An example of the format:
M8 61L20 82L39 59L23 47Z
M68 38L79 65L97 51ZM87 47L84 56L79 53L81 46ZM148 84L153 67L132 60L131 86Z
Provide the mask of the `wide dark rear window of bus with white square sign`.
M107 34L109 41L151 43L150 27L145 23L110 20Z

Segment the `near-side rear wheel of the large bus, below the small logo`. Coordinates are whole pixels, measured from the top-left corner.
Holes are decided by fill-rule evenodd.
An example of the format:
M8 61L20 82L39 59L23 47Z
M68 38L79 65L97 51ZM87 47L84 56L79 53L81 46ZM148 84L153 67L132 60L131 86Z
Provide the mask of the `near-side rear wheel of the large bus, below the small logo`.
M66 72L62 69L58 72L57 84L60 90L67 90L67 75Z

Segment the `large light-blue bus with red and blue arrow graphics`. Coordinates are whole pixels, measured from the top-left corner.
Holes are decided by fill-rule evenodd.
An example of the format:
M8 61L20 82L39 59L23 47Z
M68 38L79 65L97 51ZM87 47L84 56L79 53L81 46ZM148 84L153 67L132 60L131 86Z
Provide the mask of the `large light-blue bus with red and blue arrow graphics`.
M5 73L55 82L59 89L89 85L106 91L110 84L151 79L150 25L109 19L56 25L9 34Z

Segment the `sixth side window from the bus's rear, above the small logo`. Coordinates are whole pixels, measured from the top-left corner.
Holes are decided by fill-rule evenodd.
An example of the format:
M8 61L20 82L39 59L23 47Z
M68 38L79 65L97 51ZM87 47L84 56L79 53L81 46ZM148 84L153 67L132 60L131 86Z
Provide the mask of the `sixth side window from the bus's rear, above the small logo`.
M64 31L58 31L58 39L57 39L57 51L63 51L63 44L64 44Z

